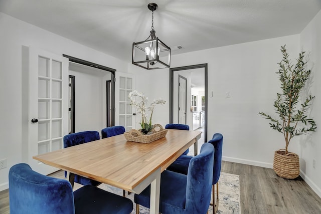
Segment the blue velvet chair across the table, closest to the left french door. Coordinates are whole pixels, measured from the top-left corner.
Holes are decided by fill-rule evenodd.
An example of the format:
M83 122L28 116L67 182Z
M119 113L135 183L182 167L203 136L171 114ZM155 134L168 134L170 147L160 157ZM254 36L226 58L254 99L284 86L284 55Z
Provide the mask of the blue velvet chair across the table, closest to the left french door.
M99 140L99 132L98 131L82 131L77 133L71 133L64 136L64 148L79 145L82 143L88 143L94 140ZM67 172L65 171L65 177ZM94 185L98 186L101 182L96 180L92 180L80 175L75 175L75 182L80 183L82 185Z

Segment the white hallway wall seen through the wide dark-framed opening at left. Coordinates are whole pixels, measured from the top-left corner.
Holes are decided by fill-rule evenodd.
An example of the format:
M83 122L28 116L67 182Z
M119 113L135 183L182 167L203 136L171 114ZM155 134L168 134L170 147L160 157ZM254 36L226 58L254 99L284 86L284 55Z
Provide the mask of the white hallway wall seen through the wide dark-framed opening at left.
M75 132L98 131L106 125L106 80L110 72L88 66L69 65L75 76Z

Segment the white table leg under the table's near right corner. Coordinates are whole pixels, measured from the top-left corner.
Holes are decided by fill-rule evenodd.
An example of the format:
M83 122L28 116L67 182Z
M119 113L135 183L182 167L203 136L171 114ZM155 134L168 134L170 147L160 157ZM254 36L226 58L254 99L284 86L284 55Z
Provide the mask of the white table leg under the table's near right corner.
M157 170L156 178L150 183L150 213L159 213L159 193L161 192L161 170Z

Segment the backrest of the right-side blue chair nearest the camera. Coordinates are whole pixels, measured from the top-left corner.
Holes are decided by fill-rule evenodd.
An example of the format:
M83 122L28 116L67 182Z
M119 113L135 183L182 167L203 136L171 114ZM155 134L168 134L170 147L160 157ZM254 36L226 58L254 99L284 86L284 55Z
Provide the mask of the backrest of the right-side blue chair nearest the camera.
M190 160L187 173L186 209L188 213L206 213L212 195L214 147L204 143L200 154Z

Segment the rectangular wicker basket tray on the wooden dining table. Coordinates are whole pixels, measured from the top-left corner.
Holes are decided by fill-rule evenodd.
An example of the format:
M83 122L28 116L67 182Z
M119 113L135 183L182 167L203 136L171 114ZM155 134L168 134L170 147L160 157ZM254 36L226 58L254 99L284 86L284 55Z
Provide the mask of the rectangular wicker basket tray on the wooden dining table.
M143 134L140 130L137 129L131 129L130 131L125 132L124 136L127 141L138 143L151 143L152 141L165 137L166 134L167 129L164 129L161 124L154 124L151 131L147 134Z

